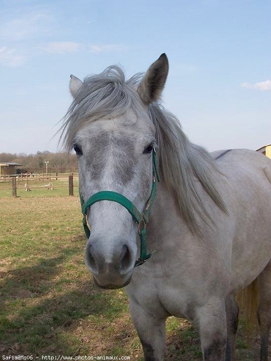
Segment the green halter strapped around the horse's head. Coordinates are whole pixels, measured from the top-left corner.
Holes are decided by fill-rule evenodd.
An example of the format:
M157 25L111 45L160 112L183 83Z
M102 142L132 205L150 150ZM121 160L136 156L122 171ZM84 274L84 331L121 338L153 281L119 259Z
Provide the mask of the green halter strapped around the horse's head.
M150 197L146 203L146 206L142 212L140 212L137 209L137 207L134 206L131 201L129 201L128 198L124 197L120 193L116 193L116 192L112 192L112 191L97 192L97 193L93 194L90 198L88 198L86 203L84 203L84 200L79 191L82 213L84 214L82 222L83 222L83 227L84 227L87 238L89 238L89 236L90 236L90 230L87 225L86 215L87 215L88 207L90 207L92 204L99 202L99 201L117 202L117 203L121 204L123 207L125 207L128 210L128 212L131 214L133 221L138 224L138 231L140 234L140 258L138 259L138 261L136 261L136 264L134 265L134 267L142 265L154 253L154 252L152 252L150 254L147 253L146 226L149 223L149 213L150 213L152 204L153 204L155 196L156 196L155 178L157 178L157 181L160 182L160 176L158 173L158 167L157 167L157 161L156 161L155 148L153 148L153 151L152 151L152 173L153 173L153 178L152 178L151 195L150 195Z

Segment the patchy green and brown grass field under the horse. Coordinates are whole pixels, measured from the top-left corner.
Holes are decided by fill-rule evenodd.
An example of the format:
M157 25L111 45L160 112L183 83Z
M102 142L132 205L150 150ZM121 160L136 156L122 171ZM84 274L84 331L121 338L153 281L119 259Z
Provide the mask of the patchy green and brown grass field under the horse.
M85 268L78 197L57 192L12 199L0 189L0 354L143 360L125 291L99 290ZM250 349L244 339L241 322L237 359L259 359L258 337ZM166 344L168 361L201 359L197 331L185 319L168 318Z

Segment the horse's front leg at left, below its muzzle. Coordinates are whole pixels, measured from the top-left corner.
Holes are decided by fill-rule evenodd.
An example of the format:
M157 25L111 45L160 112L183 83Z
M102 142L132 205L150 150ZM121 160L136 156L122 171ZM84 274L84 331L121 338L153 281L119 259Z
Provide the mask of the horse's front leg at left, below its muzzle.
M162 361L165 351L165 318L156 318L130 300L130 314L138 332L145 361Z

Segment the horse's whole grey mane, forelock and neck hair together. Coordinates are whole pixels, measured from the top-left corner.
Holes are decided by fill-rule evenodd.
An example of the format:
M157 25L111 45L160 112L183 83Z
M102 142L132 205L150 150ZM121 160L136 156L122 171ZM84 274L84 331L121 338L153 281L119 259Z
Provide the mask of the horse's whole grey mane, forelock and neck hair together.
M74 137L85 123L107 116L113 118L130 109L140 115L142 105L137 88L142 76L136 74L125 81L123 70L114 65L103 73L86 77L60 128L64 148L67 151L72 149ZM208 151L190 142L179 120L165 111L160 102L149 106L149 115L156 128L163 181L174 193L191 231L200 235L195 215L208 224L211 217L197 190L197 179L213 201L226 211L212 181L214 172L219 171L217 165Z

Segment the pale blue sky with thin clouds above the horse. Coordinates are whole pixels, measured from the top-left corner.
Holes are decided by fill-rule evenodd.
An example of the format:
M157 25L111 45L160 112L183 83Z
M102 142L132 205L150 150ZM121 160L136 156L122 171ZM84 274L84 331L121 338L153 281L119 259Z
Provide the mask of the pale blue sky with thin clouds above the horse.
M0 153L57 150L70 74L165 52L164 105L210 151L271 143L271 2L0 0Z

